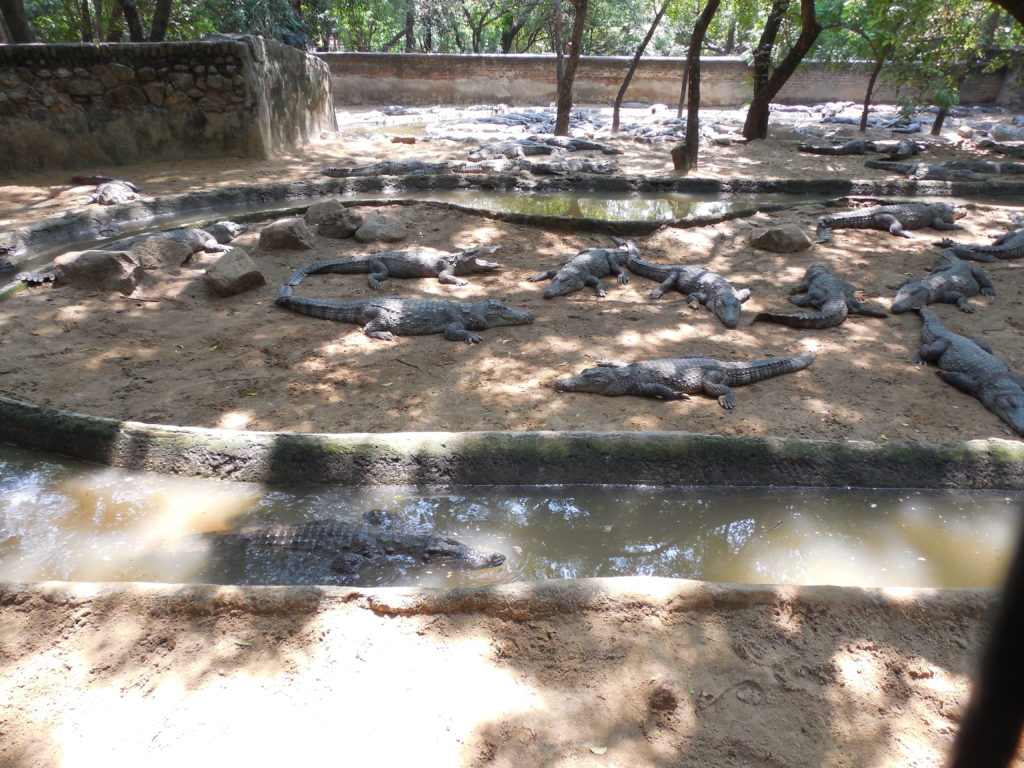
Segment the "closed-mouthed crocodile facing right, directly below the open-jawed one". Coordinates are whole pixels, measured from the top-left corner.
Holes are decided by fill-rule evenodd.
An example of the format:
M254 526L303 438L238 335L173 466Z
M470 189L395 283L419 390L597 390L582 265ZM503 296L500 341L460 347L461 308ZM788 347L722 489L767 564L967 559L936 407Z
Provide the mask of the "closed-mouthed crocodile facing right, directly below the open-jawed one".
M384 296L357 301L328 301L293 296L292 286L285 285L278 292L275 302L300 314L360 325L367 336L384 341L390 341L395 335L444 334L450 341L476 344L481 339L473 331L534 322L529 312L513 309L497 299L458 302Z

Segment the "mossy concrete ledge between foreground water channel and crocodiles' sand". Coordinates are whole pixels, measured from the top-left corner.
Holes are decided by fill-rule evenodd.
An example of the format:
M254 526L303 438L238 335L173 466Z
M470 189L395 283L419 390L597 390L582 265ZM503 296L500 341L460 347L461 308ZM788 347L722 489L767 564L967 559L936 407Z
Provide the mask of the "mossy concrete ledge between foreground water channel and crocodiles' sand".
M0 440L83 461L274 485L653 484L1024 489L1024 443L828 442L689 432L245 432L0 398Z

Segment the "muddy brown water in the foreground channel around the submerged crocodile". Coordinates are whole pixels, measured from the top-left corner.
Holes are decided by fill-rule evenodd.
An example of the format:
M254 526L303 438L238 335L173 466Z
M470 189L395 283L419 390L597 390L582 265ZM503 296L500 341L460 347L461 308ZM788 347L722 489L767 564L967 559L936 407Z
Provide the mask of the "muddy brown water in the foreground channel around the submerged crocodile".
M1022 498L992 493L540 486L266 488L62 462L0 446L0 580L337 584L328 558L211 551L240 525L358 520L498 550L498 568L386 568L358 583L460 586L660 575L734 583L999 583Z

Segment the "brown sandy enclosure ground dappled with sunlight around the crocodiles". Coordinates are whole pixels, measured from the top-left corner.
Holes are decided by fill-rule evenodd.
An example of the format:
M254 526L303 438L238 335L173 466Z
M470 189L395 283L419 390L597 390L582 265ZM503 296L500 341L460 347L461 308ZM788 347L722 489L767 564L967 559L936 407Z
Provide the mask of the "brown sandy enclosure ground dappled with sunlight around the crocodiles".
M783 116L784 117L784 116ZM699 175L881 178L861 158L796 152L779 125L752 145L710 147ZM846 129L841 129L846 130ZM949 137L947 136L947 139ZM624 172L669 174L665 146L616 140ZM302 178L325 165L395 155L464 157L465 144L327 137L265 162L92 169L146 195ZM934 158L964 156L936 148ZM81 205L66 176L9 180L9 227ZM370 211L366 211L369 213ZM316 431L685 429L828 439L1008 437L980 403L913 365L920 321L853 317L801 332L750 326L810 263L825 263L887 307L887 286L924 273L933 232L900 240L837 230L795 255L752 249L769 223L810 230L802 208L637 240L653 261L703 263L752 289L725 329L653 284L608 283L545 300L528 274L600 236L560 234L423 205L392 206L407 244L501 244L506 268L463 288L392 281L402 296L498 297L537 314L469 346L439 336L394 342L289 313L272 302L288 272L366 252L317 239L313 251L239 243L268 285L230 299L208 291L200 256L151 271L133 297L49 286L0 303L0 389L103 416L228 428ZM1005 228L1006 210L972 209L966 242ZM993 299L948 326L1024 368L1019 265L984 267ZM302 295L371 296L365 278L312 276ZM795 309L795 308L793 308ZM685 402L556 394L551 382L600 357L792 354L807 371L739 389L732 413ZM560 592L566 590L567 592ZM550 594L549 594L550 593ZM557 595L555 594L557 593ZM967 696L990 593L739 589L658 580L513 585L482 593L41 586L0 592L0 766L937 766ZM445 601L449 601L445 603ZM455 608L454 610L450 610ZM1017 764L1021 764L1018 760Z

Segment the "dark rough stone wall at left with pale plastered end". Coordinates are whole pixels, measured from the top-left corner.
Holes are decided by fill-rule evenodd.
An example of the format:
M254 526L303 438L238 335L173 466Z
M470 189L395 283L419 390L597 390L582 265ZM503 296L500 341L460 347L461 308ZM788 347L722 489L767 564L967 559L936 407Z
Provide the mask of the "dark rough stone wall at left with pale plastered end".
M336 127L329 74L260 38L0 45L0 174L265 157Z

